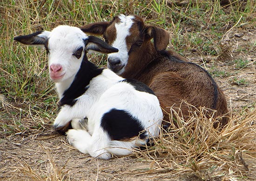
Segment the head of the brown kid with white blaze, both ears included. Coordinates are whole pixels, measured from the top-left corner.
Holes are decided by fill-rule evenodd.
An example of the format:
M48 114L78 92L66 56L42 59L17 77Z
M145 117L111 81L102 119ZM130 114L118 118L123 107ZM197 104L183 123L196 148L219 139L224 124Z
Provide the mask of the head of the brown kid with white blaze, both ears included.
M92 23L81 27L81 30L103 35L109 45L119 49L118 53L108 54L108 68L119 75L131 71L128 69L135 72L135 66L141 64L141 56L147 56L144 54L149 51L165 50L169 43L168 31L145 25L143 19L136 15L120 14L110 22ZM154 40L154 46L151 45L151 39Z

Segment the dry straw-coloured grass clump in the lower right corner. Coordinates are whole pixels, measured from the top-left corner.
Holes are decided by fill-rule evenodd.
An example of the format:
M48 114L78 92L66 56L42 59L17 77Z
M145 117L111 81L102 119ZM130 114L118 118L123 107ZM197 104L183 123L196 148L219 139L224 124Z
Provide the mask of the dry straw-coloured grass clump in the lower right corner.
M223 129L213 127L218 120L207 119L207 112L197 109L187 121L178 116L178 127L173 126L169 132L163 130L155 139L155 146L135 152L139 159L152 163L144 173L159 173L161 178L194 174L199 180L247 177L246 172L256 166L256 108L243 116L231 117Z

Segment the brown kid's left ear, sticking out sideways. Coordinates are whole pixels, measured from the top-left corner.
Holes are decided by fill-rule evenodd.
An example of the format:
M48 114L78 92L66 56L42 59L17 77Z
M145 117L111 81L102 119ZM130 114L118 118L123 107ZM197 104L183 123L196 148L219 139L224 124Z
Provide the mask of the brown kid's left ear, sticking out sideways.
M98 22L98 23L91 23L86 26L80 27L80 29L84 33L102 35L104 34L108 25L109 25L109 22Z

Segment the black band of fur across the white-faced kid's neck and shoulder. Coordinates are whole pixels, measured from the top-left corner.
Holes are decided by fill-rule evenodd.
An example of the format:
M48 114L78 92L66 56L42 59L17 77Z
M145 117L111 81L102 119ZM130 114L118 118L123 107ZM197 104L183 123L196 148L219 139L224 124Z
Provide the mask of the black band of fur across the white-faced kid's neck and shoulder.
M65 104L73 106L76 99L87 91L90 81L101 74L102 70L102 68L98 68L93 63L89 62L85 54L81 67L75 75L71 86L64 92L63 98L59 101L59 106Z

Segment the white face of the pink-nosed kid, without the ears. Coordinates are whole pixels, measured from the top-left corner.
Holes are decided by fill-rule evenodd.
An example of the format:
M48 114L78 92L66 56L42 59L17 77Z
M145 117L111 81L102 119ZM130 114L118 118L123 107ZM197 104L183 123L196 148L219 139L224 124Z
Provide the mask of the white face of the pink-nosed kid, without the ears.
M54 28L46 47L51 80L62 82L74 78L85 54L85 44L82 40L85 38L86 35L79 28L66 26Z

